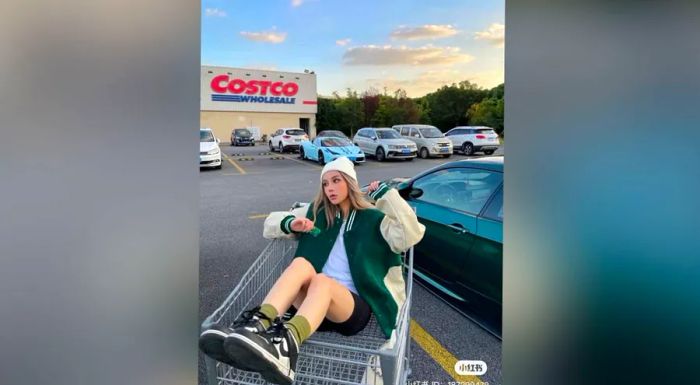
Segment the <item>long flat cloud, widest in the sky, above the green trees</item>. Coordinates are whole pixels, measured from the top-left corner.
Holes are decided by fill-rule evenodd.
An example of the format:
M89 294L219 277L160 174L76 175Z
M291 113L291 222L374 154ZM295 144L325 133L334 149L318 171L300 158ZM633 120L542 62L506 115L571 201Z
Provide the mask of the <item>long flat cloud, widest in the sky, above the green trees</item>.
M463 54L457 47L376 46L352 47L345 51L346 65L451 65L468 63L473 56Z

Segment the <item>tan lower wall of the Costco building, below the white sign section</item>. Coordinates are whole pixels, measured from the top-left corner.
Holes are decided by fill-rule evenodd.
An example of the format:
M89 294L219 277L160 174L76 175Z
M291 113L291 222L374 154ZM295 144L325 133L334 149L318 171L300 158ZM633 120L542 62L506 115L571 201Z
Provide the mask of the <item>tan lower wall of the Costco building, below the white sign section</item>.
M309 119L309 136L316 136L316 114L200 111L199 126L209 127L222 142L231 140L231 130L243 127L260 127L261 134L275 132L282 127L299 127L299 119Z

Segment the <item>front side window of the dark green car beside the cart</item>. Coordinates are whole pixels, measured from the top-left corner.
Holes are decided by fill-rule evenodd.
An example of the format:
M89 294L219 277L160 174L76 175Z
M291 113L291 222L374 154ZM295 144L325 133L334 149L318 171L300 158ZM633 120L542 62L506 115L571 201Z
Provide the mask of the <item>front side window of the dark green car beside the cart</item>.
M478 214L503 174L476 168L447 168L416 180L414 188L423 190L419 201Z

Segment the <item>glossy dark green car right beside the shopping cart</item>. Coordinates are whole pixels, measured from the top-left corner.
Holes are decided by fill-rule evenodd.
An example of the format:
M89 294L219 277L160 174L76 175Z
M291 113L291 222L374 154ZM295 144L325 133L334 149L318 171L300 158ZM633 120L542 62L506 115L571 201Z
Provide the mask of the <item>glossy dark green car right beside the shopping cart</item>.
M445 163L389 183L426 227L414 249L418 280L500 338L503 157Z

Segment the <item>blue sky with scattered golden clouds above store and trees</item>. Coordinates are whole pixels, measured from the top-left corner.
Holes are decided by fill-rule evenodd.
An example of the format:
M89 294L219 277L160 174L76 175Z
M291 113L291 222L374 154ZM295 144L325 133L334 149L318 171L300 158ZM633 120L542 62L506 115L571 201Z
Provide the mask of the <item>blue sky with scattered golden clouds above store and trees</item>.
M316 73L410 97L469 80L503 82L504 0L203 0L203 65Z

